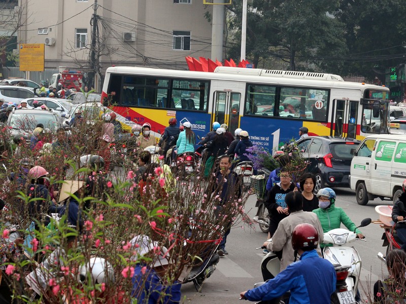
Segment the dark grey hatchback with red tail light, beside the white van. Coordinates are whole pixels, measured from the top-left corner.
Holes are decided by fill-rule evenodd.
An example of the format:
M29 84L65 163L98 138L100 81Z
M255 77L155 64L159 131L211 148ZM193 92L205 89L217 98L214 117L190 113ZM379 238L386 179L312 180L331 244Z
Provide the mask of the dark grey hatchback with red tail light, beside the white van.
M350 186L351 150L359 143L359 140L332 136L309 136L297 141L302 156L310 161L307 171L316 176L315 192L325 186Z

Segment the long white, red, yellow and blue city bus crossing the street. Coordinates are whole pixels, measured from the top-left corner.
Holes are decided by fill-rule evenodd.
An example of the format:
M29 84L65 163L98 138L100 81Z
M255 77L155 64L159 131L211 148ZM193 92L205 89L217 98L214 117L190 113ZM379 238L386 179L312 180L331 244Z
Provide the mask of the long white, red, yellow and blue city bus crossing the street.
M113 92L113 93L112 93ZM214 72L109 67L101 101L126 121L150 123L156 137L168 120L188 121L204 136L217 121L248 131L273 150L300 127L309 135L362 139L389 133L389 89L315 72L217 67Z

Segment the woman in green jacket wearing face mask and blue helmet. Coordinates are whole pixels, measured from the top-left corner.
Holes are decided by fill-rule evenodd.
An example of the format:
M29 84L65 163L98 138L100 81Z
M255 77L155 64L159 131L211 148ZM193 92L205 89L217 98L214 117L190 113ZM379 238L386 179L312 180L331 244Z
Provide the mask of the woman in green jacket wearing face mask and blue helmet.
M334 206L336 196L333 189L322 188L317 193L317 197L319 198L319 208L313 210L313 212L319 217L324 233L332 229L340 228L341 223L343 223L348 230L354 231L356 225L351 221L345 211L340 207ZM358 229L355 229L355 232L357 233L357 238L364 238ZM325 246L329 245L320 244L321 248Z

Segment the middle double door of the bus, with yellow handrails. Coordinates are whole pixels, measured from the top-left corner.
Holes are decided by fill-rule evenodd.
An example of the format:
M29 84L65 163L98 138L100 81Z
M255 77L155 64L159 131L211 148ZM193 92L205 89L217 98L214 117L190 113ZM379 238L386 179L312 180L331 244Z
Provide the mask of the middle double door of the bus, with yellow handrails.
M240 124L241 93L216 91L213 109L213 122L228 125L228 131L234 134Z

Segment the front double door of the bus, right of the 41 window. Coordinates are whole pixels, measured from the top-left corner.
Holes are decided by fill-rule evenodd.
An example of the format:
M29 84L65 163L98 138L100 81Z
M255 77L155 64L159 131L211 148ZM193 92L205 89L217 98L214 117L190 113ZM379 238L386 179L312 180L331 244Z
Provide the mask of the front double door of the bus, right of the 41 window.
M356 138L359 101L334 100L330 134L337 137Z

